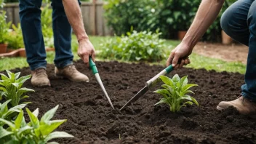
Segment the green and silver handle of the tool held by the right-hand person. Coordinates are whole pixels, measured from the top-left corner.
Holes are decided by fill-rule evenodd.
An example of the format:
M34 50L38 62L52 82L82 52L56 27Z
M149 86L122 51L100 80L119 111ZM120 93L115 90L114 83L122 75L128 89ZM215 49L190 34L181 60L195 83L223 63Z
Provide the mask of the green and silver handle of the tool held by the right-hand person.
M165 68L163 71L158 73L156 76L153 76L153 78L147 81L145 85L149 88L154 87L157 83L159 83L159 81L161 81L161 79L159 79L159 76L166 75L167 73L170 73L172 70L173 70L172 65L169 65L167 68Z

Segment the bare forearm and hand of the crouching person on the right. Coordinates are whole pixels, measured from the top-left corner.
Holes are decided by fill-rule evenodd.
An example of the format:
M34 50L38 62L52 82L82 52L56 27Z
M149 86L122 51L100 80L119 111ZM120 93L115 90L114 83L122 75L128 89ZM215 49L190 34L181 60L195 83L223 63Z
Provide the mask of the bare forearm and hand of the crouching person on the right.
M188 29L183 41L172 50L167 60L167 66L171 65L177 68L182 68L184 64L190 63L187 58L191 55L193 47L201 39L201 36L207 31L209 26L214 22L217 15L223 7L224 0L202 0L196 17ZM181 60L180 60L181 59ZM180 63L178 64L178 61Z

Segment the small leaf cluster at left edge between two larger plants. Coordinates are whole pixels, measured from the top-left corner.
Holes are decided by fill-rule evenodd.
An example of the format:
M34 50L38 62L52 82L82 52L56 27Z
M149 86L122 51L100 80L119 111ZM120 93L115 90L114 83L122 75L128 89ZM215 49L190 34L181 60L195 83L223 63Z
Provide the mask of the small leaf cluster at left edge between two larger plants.
M0 118L5 119L7 121L11 121L12 118L17 116L17 114L20 112L20 110L22 108L24 108L25 105L27 105L27 104L20 104L20 105L16 105L15 107L8 109L8 103L10 101L11 100L7 100L3 104L0 103ZM0 126L3 126L3 125L4 124L0 122ZM1 131L0 131L0 133L1 133Z

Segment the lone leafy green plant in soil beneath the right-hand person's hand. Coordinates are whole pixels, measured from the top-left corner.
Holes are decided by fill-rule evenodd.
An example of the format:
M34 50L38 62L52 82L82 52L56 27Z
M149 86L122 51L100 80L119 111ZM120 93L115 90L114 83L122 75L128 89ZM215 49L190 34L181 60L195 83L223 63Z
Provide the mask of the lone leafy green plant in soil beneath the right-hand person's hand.
M188 84L188 76L180 77L175 74L172 79L167 76L160 76L161 81L164 82L161 87L164 89L158 89L154 92L163 96L161 100L155 105L160 103L166 103L169 105L170 111L177 112L180 111L180 108L185 107L186 105L199 105L196 99L188 95L188 93L193 93L189 90L191 87L198 86L197 84Z

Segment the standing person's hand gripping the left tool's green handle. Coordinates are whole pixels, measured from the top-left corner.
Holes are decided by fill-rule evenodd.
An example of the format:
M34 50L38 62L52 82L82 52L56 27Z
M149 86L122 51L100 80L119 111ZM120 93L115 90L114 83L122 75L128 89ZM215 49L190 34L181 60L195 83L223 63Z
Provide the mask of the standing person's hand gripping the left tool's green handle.
M84 63L87 64L88 67L90 56L95 62L95 47L93 47L89 39L82 39L79 41L79 49L77 50L77 54L79 55L79 57L81 57L81 60L83 60Z

